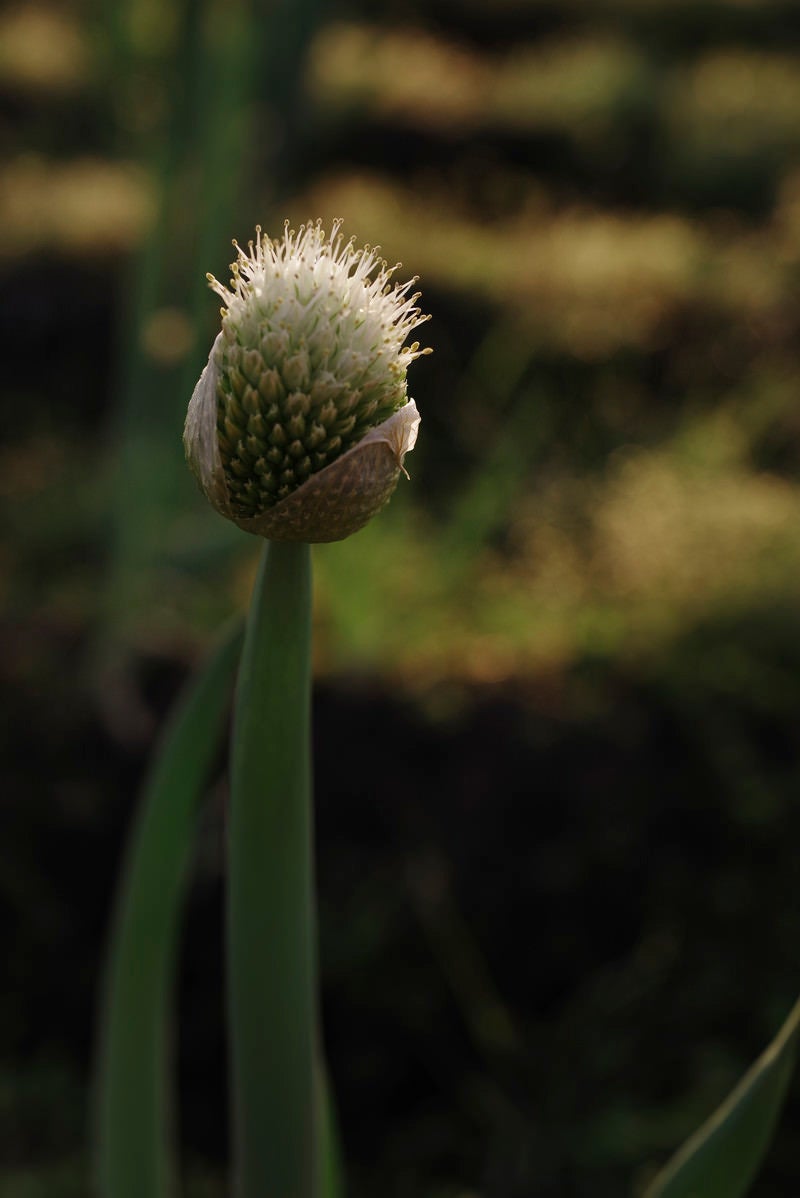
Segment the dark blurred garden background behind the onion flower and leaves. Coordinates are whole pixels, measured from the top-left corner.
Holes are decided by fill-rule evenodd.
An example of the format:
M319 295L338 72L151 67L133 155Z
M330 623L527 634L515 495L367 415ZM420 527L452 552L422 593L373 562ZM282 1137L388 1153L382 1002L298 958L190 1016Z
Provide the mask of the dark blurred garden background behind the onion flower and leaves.
M89 1193L126 830L255 568L182 464L204 276L317 216L420 276L435 350L411 484L315 552L351 1192L635 1194L800 985L795 5L5 5L0 145L0 1198ZM226 1169L225 785L188 1198Z

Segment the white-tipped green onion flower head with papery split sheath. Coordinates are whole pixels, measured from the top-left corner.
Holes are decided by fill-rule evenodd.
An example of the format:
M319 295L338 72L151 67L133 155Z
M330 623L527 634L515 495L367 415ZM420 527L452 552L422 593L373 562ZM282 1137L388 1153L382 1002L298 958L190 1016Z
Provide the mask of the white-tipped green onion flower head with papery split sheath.
M406 389L428 320L376 249L320 222L237 246L222 331L183 444L212 504L271 540L340 540L388 501L419 413Z

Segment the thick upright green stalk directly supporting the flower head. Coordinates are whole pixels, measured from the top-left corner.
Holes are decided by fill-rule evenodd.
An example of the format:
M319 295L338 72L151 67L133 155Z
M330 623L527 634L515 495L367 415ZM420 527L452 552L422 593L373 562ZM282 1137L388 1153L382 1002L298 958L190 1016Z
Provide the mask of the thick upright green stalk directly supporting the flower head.
M265 545L234 721L229 1002L236 1198L314 1198L311 561Z

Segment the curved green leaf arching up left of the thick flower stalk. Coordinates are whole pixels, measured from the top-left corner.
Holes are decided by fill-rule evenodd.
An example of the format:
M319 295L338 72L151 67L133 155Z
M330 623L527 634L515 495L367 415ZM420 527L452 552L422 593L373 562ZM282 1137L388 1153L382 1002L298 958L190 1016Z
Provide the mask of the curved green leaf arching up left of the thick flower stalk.
M169 1015L198 798L217 752L242 647L237 619L188 683L164 731L128 846L111 924L97 1060L102 1198L165 1198Z

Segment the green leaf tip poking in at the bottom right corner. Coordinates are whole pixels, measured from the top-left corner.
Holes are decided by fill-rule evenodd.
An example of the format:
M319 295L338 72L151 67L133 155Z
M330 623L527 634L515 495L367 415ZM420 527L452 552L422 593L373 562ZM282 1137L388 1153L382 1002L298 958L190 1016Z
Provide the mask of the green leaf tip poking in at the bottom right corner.
M769 1048L680 1148L644 1198L741 1198L766 1154L792 1077L800 999Z

